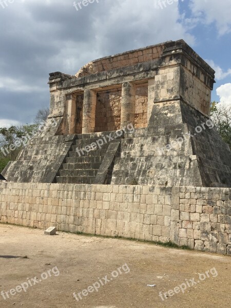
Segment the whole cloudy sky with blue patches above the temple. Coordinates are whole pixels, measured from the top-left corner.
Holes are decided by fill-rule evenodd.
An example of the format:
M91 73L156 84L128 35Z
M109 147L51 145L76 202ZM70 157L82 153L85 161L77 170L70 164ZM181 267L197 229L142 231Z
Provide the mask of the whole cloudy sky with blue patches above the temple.
M181 38L216 70L213 100L231 104L231 1L90 2L0 0L0 127L31 123L49 106L50 72Z

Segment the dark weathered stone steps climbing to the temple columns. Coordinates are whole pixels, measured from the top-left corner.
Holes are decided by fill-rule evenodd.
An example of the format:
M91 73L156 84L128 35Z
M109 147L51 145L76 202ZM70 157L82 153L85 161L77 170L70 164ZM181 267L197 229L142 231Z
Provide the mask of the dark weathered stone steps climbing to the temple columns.
M104 141L101 148L97 146L95 149L90 151L86 151L85 147L90 146L92 143L96 143L99 139L106 139L106 136L110 133L114 132L109 131L76 135L76 139L70 147L62 167L56 174L56 182L70 184L94 184L95 181L97 181L97 175L100 168L102 172L102 163L108 156L108 148L111 143L114 143L115 140L108 143ZM117 142L120 143L119 138ZM109 151L109 155L111 156L111 150ZM112 161L113 158L111 162ZM107 176L107 168L110 167L109 165L106 166L106 170L103 170L106 171L105 178Z

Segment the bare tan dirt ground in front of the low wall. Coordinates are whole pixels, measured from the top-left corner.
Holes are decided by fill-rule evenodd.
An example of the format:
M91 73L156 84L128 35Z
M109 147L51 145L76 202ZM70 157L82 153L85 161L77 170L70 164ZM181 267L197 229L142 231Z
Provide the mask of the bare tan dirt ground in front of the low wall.
M136 241L0 224L0 273L4 308L231 306L230 257Z

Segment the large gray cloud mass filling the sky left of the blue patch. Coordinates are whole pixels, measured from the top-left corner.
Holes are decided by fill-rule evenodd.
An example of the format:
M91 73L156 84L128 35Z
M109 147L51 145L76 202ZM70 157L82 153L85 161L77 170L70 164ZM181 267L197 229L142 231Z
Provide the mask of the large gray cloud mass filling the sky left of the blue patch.
M193 45L179 20L177 3L158 10L151 0L99 0L79 11L72 0L0 7L1 119L28 123L48 106L49 72L74 74L101 56L167 40Z

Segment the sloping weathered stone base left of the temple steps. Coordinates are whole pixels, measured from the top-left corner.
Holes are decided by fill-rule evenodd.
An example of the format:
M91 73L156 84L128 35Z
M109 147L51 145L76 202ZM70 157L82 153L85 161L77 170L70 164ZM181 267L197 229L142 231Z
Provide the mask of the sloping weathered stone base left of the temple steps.
M16 161L2 172L8 182L52 183L71 142L67 136L35 137L23 148Z

